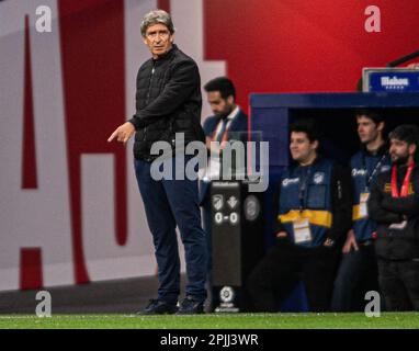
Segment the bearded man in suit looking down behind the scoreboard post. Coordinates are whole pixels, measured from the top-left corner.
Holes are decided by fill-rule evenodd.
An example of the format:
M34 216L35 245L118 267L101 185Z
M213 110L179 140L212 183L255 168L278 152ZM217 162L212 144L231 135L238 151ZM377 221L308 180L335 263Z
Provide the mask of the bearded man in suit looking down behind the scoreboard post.
M248 116L236 103L236 89L227 77L217 77L210 80L204 89L207 101L214 115L204 121L205 144L208 152L208 168L200 182L200 205L203 208L203 227L208 247L208 280L211 285L212 271L212 210L211 182L222 179L222 157L226 143L231 139L246 141L248 131ZM219 145L215 145L218 141ZM212 307L210 306L210 309Z

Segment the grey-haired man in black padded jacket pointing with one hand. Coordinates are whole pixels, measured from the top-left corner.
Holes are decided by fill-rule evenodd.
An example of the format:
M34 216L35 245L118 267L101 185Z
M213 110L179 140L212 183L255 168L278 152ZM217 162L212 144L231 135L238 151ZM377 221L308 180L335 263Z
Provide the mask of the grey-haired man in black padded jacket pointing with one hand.
M143 314L202 313L206 298L207 249L201 227L197 180L179 177L178 171L184 176L192 156L184 155L183 147L179 148L175 143L179 134L183 134L184 144L205 141L201 127L200 72L195 61L173 44L174 27L167 12L147 13L140 30L151 58L138 70L136 113L115 129L109 141L116 138L125 144L135 133L135 172L152 234L160 283L157 298L150 301ZM156 141L166 141L171 151L167 159L175 171L171 177L155 177L151 163L159 155L152 155L151 146ZM179 310L177 226L184 245L188 276L186 296Z

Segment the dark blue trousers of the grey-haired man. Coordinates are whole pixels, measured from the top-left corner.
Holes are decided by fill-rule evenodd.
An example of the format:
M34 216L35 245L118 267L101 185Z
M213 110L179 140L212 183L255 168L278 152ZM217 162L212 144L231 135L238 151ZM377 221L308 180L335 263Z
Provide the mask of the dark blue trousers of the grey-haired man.
M185 156L183 166L191 159ZM179 173L179 167L174 169ZM184 245L188 284L185 293L205 301L207 248L205 233L201 227L197 201L197 180L155 180L151 163L135 160L135 172L143 197L147 223L152 234L160 286L158 299L175 303L180 293L180 260L175 227ZM177 174L179 176L179 174Z

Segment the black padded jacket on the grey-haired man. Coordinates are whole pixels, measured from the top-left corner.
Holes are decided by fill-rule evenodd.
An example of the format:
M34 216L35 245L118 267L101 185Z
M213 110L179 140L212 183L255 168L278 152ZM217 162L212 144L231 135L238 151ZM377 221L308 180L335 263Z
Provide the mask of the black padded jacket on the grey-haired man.
M155 141L167 141L174 149L177 133L189 141L205 141L201 126L201 78L195 61L177 45L158 59L150 58L137 73L136 113L129 120L136 134L134 157L151 161Z

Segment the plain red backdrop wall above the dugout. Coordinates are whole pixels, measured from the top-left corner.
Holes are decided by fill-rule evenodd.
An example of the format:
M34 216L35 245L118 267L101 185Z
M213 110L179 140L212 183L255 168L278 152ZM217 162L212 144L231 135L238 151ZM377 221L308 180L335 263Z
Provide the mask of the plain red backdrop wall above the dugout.
M364 30L369 5L381 33ZM250 92L353 91L364 66L419 50L417 0L204 1L205 56Z

